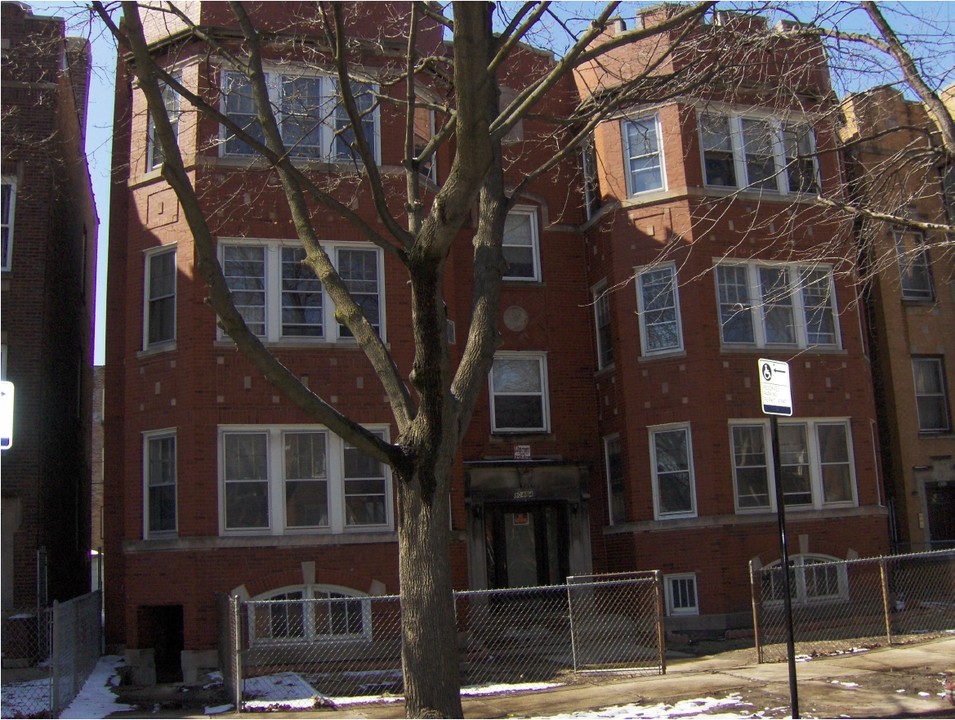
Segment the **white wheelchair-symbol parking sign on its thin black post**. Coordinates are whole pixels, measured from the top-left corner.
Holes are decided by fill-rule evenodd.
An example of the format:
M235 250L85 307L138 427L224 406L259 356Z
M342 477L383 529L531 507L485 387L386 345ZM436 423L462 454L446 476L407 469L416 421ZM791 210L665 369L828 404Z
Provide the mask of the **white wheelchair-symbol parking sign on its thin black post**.
M786 657L789 660L789 704L793 718L799 718L799 691L796 687L796 642L793 636L793 603L789 576L789 549L786 547L786 498L783 495L782 458L779 453L779 416L793 414L788 363L759 360L759 394L763 413L769 415L773 442L773 484L776 488L776 518L779 522L779 556L783 573L783 610L786 615Z

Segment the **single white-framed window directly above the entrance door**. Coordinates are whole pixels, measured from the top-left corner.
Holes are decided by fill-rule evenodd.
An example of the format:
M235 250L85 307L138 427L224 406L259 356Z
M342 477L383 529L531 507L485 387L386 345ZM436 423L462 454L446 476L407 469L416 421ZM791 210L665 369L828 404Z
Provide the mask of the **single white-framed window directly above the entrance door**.
M498 352L489 383L492 432L550 431L546 354Z

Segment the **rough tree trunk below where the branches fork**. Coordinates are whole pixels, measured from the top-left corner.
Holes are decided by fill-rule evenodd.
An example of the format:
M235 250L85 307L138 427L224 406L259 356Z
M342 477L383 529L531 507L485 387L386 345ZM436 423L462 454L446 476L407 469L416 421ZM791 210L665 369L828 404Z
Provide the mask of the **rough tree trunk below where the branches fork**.
M398 483L401 662L407 717L463 717L451 584L449 478L423 493L421 467ZM432 465L433 466L433 465ZM449 463L438 463L448 467ZM427 472L427 471L425 471ZM426 496L431 495L430 502Z

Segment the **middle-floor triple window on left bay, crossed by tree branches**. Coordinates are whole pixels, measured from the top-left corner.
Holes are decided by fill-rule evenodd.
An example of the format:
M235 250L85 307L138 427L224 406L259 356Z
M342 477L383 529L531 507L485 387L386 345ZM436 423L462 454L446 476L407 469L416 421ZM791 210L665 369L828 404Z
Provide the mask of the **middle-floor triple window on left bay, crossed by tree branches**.
M381 251L367 243L325 243L338 274L372 327L385 337ZM281 242L219 242L219 260L236 309L249 330L271 342L351 338L305 250Z

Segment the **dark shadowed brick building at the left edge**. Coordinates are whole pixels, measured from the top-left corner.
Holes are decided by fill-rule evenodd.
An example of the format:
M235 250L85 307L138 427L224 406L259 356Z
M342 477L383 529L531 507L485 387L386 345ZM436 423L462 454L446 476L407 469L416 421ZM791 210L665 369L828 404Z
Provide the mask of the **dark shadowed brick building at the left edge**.
M24 3L0 13L2 362L16 389L2 456L6 618L89 590L98 220L83 149L89 44Z

